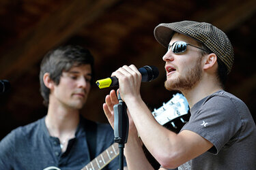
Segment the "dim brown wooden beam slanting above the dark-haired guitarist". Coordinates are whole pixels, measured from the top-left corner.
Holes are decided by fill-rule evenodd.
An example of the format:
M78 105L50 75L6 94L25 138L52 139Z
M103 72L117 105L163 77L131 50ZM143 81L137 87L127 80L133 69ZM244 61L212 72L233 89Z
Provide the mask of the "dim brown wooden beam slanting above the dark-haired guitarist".
M42 54L74 35L81 27L96 20L117 0L66 1L53 14L46 15L16 44L1 54L1 78L15 80L26 68L38 63Z

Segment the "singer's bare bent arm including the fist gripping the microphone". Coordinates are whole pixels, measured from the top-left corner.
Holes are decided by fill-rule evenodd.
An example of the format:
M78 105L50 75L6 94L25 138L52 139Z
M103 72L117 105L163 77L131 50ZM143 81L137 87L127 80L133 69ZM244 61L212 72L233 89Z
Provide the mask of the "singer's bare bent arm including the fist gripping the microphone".
M130 117L147 149L163 167L175 168L203 154L212 143L192 131L173 133L156 122L140 95L141 73L134 65L113 73Z

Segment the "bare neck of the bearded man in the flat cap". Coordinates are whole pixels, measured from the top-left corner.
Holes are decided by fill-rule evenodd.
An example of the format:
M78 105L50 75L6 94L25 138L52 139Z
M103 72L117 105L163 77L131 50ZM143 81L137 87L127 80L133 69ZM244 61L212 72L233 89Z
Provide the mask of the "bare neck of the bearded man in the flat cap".
M200 80L192 89L182 90L182 94L188 100L189 107L192 108L195 103L218 90L223 90L223 88L216 81Z

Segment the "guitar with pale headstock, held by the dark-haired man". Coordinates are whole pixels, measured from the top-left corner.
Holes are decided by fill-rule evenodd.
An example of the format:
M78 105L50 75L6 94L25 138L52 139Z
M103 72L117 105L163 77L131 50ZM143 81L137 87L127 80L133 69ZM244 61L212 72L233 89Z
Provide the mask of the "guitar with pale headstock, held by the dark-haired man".
M154 109L152 115L162 126L165 126L169 129L168 124L171 124L174 129L177 129L175 122L180 120L182 123L186 123L184 116L188 114L188 109L188 101L186 101L186 98L182 94L177 93L176 95L173 95L173 98L170 99L167 103L163 103L161 107ZM83 167L81 170L103 169L118 155L118 143L113 143L111 146L109 146L109 148L94 158L94 160L91 160L91 162L85 165L85 167ZM47 167L43 170L61 169L57 167Z

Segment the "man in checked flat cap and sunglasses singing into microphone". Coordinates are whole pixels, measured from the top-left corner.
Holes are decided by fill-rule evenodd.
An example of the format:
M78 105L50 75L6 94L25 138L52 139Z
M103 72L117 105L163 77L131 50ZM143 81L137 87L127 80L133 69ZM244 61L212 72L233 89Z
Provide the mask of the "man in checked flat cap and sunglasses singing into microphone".
M255 169L255 122L245 103L223 90L234 60L227 35L210 23L185 20L159 24L154 36L167 48L162 56L165 88L182 92L191 116L180 133L165 129L141 99L138 69L124 65L113 72L128 107L130 129L124 150L128 169L153 169L141 141L160 169ZM111 90L103 109L112 126L117 102Z

